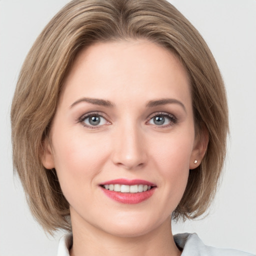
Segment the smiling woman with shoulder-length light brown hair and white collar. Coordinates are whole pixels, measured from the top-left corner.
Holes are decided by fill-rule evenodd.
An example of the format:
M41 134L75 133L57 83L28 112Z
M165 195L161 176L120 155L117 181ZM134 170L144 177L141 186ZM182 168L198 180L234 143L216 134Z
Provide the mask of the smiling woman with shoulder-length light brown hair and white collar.
M214 58L169 3L67 4L28 53L11 122L31 211L72 230L59 255L239 253L171 233L170 215L213 198L228 121Z

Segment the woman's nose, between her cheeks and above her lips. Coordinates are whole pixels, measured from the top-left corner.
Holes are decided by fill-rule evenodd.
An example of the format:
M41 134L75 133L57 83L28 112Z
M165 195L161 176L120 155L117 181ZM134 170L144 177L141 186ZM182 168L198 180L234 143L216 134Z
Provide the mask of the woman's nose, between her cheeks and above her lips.
M113 138L112 161L126 169L137 169L147 162L147 152L143 134L136 127L119 129Z

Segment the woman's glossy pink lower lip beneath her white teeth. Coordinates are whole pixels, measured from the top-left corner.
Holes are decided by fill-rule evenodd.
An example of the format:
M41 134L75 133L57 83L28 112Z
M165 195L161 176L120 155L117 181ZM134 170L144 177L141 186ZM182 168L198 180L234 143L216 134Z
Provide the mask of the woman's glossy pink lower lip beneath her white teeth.
M105 193L105 195L107 195L109 198L117 202L135 204L135 203L142 202L148 199L149 197L151 197L155 190L155 187L152 187L147 191L137 192L137 193L121 193L116 191L110 191L103 187L101 187L101 189Z

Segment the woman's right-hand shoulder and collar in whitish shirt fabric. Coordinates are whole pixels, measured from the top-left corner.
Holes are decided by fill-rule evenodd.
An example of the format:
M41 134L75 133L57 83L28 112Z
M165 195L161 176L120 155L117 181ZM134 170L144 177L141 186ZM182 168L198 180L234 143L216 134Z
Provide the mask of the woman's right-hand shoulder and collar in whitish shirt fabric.
M255 256L240 250L207 246L196 233L175 234L174 241L183 249L181 256Z

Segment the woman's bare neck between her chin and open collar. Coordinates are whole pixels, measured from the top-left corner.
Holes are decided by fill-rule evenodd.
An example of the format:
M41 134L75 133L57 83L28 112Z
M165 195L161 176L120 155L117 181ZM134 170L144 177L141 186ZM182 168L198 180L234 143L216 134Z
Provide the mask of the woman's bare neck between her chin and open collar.
M72 222L73 245L70 256L179 256L181 252L175 245L171 233L171 219L146 234L120 237L104 232L86 223L86 227Z

